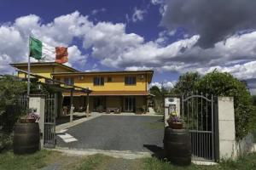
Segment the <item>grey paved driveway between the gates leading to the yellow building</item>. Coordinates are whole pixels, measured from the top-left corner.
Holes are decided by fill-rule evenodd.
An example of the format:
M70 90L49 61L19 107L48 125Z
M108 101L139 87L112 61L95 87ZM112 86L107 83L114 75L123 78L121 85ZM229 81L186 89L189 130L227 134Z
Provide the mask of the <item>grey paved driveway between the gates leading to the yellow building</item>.
M57 137L59 147L148 151L162 147L164 125L162 116L98 116L69 127L64 133L78 141L65 143Z

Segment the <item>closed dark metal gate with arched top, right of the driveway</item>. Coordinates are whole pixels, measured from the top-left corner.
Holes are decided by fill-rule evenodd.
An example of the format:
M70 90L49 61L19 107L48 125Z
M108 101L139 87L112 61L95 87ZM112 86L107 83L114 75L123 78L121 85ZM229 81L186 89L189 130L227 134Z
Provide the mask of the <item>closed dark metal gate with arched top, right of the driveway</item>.
M189 129L192 158L215 161L214 102L212 95L183 95L182 118Z

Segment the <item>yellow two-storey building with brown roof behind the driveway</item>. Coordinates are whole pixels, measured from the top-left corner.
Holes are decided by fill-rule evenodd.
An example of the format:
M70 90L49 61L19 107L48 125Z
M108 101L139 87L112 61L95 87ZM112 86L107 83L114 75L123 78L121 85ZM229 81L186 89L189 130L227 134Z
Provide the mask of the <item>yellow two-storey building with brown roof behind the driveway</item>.
M11 64L27 71L27 64ZM31 72L81 88L89 88L90 111L148 111L148 84L154 71L81 72L58 63L32 63ZM18 71L19 77L26 77ZM69 106L70 93L63 92L63 106ZM75 110L87 105L86 94L73 93Z

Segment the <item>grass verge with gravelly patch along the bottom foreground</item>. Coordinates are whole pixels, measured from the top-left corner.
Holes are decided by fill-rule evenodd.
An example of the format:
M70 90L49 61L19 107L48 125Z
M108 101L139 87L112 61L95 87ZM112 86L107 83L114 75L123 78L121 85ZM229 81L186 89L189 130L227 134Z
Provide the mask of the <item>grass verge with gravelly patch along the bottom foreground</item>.
M191 164L189 167L178 167L166 160L159 160L155 157L137 160L124 160L110 156L67 156L56 151L41 150L32 155L15 156L12 151L0 154L0 169L38 169L51 165L59 166L59 169L70 170L104 170L104 169L140 169L140 170L231 170L256 169L256 153L239 158L237 161L223 161L215 166L199 166ZM115 168L113 168L115 167ZM50 168L49 168L50 169Z

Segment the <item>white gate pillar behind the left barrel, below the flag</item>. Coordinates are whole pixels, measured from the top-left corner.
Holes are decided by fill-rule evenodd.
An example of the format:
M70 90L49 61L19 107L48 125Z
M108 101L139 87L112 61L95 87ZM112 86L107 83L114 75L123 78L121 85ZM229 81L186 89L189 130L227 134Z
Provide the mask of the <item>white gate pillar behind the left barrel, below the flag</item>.
M41 148L44 147L44 105L45 105L44 95L29 97L29 108L36 109L35 114L40 116L40 119L37 122L39 124L39 129L40 129Z

